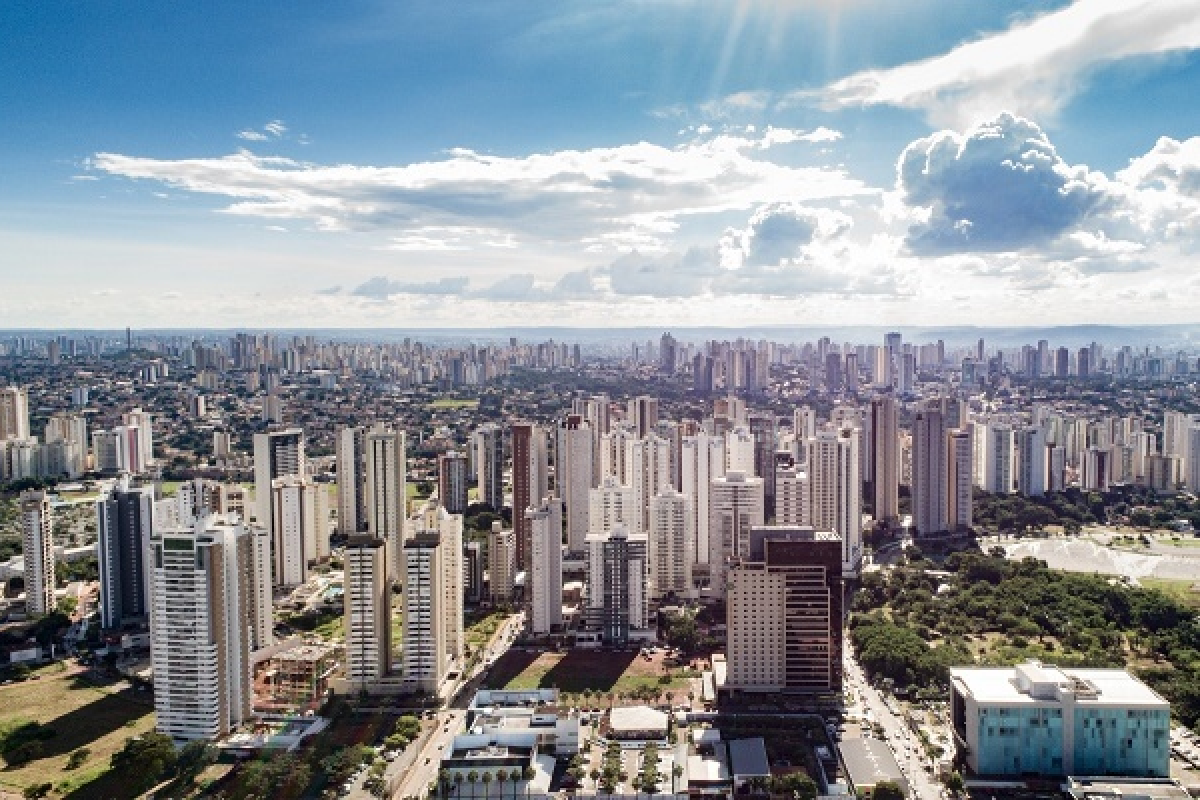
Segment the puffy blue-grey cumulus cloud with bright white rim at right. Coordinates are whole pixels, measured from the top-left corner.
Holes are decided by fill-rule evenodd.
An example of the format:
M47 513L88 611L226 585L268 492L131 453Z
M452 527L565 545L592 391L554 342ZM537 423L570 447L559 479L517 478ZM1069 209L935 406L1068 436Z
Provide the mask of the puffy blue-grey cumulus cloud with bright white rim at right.
M1036 124L1007 113L913 142L896 169L905 201L920 209L908 231L918 253L1046 243L1104 200L1103 176L1067 164Z

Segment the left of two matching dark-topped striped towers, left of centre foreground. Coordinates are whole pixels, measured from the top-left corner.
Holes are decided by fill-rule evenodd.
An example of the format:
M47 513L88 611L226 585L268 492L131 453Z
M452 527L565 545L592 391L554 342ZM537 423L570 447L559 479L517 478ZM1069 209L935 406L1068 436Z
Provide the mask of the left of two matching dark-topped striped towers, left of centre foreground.
M353 534L346 543L346 680L365 690L391 669L391 584L386 543Z

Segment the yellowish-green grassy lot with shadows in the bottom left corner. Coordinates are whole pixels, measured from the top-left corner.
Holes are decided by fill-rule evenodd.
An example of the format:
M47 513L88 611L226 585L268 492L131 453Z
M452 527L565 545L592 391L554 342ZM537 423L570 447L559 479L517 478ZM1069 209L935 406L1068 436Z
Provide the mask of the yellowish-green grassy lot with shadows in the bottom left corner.
M41 758L22 765L6 764L0 787L23 789L54 783L64 794L98 796L84 784L108 771L109 759L126 739L154 728L149 694L86 684L62 663L35 674L40 675L37 680L0 686L0 729L37 722L52 728L54 735L43 741ZM83 766L68 771L67 758L79 747L88 747L91 754ZM112 783L113 777L107 782Z

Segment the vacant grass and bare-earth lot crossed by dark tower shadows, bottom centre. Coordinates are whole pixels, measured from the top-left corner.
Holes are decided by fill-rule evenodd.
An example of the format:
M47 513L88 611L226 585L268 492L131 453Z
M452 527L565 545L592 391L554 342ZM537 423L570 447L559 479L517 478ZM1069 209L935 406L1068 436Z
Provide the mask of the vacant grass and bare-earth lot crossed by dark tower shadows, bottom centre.
M672 669L668 684L659 682L662 675L661 654L647 661L637 652L608 650L569 650L566 652L526 652L510 650L488 674L491 688L557 687L578 693L594 692L628 694L638 688L685 688L688 679Z

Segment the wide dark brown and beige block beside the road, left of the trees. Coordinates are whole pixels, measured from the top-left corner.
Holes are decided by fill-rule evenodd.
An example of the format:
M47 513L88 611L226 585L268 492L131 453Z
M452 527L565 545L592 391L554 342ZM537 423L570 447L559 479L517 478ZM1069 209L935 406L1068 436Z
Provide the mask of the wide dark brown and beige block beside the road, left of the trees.
M730 692L841 693L842 543L811 528L756 527L726 595Z

